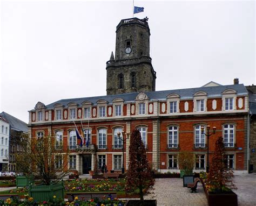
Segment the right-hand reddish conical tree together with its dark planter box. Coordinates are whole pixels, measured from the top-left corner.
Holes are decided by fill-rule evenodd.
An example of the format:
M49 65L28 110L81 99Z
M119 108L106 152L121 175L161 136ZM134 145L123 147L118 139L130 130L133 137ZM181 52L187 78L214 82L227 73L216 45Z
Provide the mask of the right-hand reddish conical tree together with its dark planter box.
M215 143L215 151L208 174L201 174L208 205L237 206L237 194L231 189L237 189L233 184L233 171L225 165L223 138Z

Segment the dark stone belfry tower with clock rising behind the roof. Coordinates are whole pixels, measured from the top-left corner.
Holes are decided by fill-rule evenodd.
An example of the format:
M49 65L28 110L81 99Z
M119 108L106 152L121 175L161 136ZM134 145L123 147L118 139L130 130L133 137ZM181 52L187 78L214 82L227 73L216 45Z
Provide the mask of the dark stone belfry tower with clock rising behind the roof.
M116 55L106 62L107 95L156 90L147 19L123 19L116 30Z

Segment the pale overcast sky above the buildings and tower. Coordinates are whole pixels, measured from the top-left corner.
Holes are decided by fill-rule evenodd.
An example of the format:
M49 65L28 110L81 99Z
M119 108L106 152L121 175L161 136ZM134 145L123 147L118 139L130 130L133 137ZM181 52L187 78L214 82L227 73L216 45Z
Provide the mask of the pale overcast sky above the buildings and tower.
M134 1L149 17L156 90L255 84L254 1ZM0 112L106 95L106 61L130 1L1 1Z

